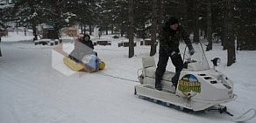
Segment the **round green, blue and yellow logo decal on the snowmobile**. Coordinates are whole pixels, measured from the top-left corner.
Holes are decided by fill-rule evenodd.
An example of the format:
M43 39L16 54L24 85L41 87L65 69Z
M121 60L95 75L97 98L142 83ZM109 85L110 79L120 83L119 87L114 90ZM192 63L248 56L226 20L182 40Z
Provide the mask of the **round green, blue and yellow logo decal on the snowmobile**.
M201 83L192 74L186 74L179 80L178 89L188 97L188 92L201 92Z

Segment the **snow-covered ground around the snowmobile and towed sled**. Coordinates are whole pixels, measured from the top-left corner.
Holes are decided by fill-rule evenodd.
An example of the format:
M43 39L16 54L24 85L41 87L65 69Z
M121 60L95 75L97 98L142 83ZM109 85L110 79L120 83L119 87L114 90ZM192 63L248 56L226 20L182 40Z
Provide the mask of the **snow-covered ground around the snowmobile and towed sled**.
M22 39L23 37L18 36ZM128 58L128 48L96 46L106 69L94 73L63 74L53 65L56 46L34 45L32 41L11 42L3 38L0 58L1 123L216 123L230 122L218 113L182 113L174 108L139 99L133 95L141 58L149 46L135 47L135 57ZM72 45L64 43L67 47ZM219 44L207 52L209 59L220 57L224 72L235 85L238 99L227 103L232 113L256 108L256 51L238 51L237 63L226 66L226 52ZM67 50L67 49L66 49ZM65 50L64 50L65 51ZM56 53L56 52L55 52ZM154 56L158 60L158 53ZM61 60L61 58L60 58ZM66 65L62 70L72 72ZM173 65L168 65L173 71ZM73 73L73 72L72 72ZM256 119L248 122L255 123Z

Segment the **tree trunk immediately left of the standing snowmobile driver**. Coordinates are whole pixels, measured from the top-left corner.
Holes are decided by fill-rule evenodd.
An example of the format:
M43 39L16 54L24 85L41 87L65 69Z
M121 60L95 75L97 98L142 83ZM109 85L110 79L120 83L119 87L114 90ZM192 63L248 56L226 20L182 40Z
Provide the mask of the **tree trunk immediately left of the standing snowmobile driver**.
M156 53L157 18L158 18L157 0L153 0L153 17L152 17L152 25L151 25L151 49L150 49L151 57Z

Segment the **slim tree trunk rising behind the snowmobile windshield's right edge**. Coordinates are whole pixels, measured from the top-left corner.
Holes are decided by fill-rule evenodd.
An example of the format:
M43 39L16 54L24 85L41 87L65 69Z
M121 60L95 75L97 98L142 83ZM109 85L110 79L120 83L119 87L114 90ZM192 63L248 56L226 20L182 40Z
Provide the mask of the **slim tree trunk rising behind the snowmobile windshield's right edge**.
M211 4L210 0L208 0L208 6L207 6L207 40L208 40L208 45L206 48L206 51L212 50L212 32L211 32Z

